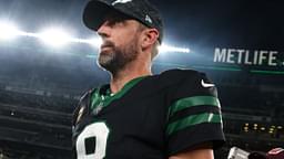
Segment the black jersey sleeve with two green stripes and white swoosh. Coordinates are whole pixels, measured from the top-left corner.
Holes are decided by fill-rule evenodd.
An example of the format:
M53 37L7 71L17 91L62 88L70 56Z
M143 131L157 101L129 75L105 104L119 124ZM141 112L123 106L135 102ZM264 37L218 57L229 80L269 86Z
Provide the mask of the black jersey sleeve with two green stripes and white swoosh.
M212 144L215 149L225 140L216 87L204 73L180 72L183 77L169 93L165 126L168 155L203 142Z

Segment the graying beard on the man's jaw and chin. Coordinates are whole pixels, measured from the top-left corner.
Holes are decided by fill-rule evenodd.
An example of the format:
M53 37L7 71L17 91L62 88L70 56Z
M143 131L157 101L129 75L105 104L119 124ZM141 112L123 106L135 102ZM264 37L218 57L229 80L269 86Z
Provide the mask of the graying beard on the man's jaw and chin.
M98 64L100 67L109 71L113 76L115 76L120 71L124 70L130 62L136 60L138 40L134 39L123 47L118 47L112 42L108 43L112 49L108 53L100 51Z

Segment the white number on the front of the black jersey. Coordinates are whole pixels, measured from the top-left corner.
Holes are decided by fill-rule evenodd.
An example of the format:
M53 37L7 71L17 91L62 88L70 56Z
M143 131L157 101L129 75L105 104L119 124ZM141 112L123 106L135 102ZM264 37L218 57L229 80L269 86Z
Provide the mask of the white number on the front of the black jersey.
M102 159L105 156L106 139L109 136L109 128L104 123L94 123L84 128L77 139L77 158L78 159ZM87 155L85 139L95 138L94 153Z

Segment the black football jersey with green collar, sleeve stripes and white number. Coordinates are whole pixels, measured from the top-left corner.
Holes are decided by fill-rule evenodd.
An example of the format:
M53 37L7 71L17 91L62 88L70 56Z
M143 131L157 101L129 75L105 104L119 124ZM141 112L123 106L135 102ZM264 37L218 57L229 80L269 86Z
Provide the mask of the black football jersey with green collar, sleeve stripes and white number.
M109 85L80 99L73 120L74 158L165 159L202 142L214 148L224 142L216 87L205 74L171 70L133 81L106 95L106 102L99 95L105 95ZM93 94L98 102L91 100Z

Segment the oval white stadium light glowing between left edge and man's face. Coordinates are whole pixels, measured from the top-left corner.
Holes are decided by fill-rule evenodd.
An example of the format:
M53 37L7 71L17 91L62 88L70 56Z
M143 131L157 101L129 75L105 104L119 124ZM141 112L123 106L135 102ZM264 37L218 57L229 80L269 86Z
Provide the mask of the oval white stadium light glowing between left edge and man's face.
M67 32L55 28L39 33L38 38L51 46L63 46L72 41Z

